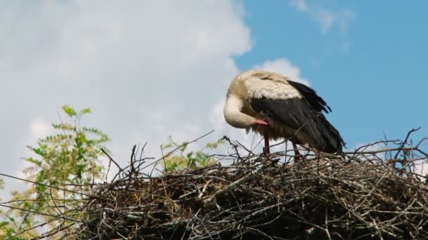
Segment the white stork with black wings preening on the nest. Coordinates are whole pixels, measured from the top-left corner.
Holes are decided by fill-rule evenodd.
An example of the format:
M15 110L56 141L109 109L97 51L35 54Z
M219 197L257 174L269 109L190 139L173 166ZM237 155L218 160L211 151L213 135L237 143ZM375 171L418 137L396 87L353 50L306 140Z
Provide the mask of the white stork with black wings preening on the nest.
M312 88L275 72L248 70L230 84L224 114L231 126L263 135L266 154L269 140L279 138L290 140L296 154L296 144L341 152L344 140L322 111L332 110Z

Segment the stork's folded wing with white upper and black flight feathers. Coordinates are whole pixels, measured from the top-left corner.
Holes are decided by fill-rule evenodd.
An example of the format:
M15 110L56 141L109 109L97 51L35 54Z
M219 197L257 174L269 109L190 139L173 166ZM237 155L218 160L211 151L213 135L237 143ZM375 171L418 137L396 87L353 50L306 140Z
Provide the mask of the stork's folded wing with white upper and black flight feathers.
M254 111L263 112L289 128L302 131L319 144L313 146L315 148L326 152L341 149L343 140L339 132L321 112L328 107L311 88L296 82L248 80L246 87Z

